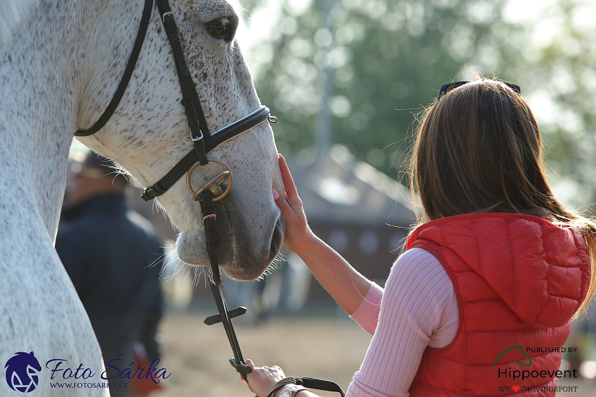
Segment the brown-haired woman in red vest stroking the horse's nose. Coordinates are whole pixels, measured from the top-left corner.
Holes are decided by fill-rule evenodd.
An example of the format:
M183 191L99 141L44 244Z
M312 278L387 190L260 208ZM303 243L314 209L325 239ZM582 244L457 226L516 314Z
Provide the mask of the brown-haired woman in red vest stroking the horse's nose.
M424 216L383 290L313 235L280 157L285 244L374 335L346 396L554 396L562 354L552 347L596 288L596 225L548 186L520 88L443 85L411 162ZM265 397L284 377L255 368L248 382ZM315 396L291 384L272 395Z

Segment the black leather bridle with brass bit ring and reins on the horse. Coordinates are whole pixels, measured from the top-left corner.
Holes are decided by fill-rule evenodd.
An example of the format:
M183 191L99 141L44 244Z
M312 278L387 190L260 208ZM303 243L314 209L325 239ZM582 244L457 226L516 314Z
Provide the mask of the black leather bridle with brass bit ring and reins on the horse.
M114 97L112 97L106 110L97 120L97 122L95 122L95 124L87 130L76 131L76 137L88 137L89 135L93 135L95 132L101 130L101 128L104 127L116 110L116 107L118 107L126 87L128 86L130 77L133 76L133 71L141 52L144 37L147 33L147 28L149 27L152 8L151 6L153 1L154 0L145 0L139 32L137 33L137 38L135 39L133 50L130 53L128 64L126 65L124 74L120 83L118 84L118 88L114 93ZM184 106L184 110L188 118L190 137L191 141L193 141L193 150L185 155L184 158L177 163L177 165L170 169L170 172L165 174L163 178L154 183L153 186L148 186L145 188L141 197L143 200L149 201L158 195L163 195L163 193L171 188L174 183L176 183L184 174L187 174L187 187L193 196L193 199L201 204L201 212L203 213L203 226L205 228L205 242L210 260L210 268L212 270L212 278L209 279L209 286L211 288L213 298L215 298L218 311L218 314L209 316L207 319L205 319L205 324L213 325L219 322L223 324L233 351L233 358L230 358L229 361L231 365L236 368L236 371L240 372L243 379L247 380L246 374L252 372L252 368L250 368L250 366L246 365L244 362L240 345L238 344L238 339L236 338L236 333L231 322L233 317L244 314L246 312L246 308L236 307L236 309L228 310L224 295L219 288L219 285L221 284L221 278L219 275L219 265L217 263L218 236L215 207L213 202L222 200L222 198L224 198L229 192L232 183L232 176L229 167L227 167L224 162L214 158L208 158L207 154L219 146L219 144L236 137L236 135L246 132L252 127L256 127L257 125L264 123L266 120L270 120L274 123L276 119L271 116L269 109L266 106L259 106L259 109L252 111L252 113L248 114L248 116L236 120L230 125L210 133L207 121L205 120L205 115L203 113L203 108L201 107L201 102L198 99L195 85L189 74L189 70L184 58L182 44L180 43L180 36L178 36L178 28L175 22L175 15L170 8L170 4L168 4L168 0L155 1L158 11L161 15L161 21L163 22L165 33L168 35L168 41L172 47L178 80L180 81L180 89L182 90L182 105ZM208 181L208 183L205 183L201 189L195 191L191 186L191 174L196 167L207 165L209 162L216 162L217 164L221 165L224 168L224 172L215 176L215 178ZM226 181L227 186L224 188L223 184ZM344 392L341 391L341 388L337 384L334 384L330 381L313 379L309 377L295 378L294 380L313 389L337 391L341 394L341 396L344 395Z

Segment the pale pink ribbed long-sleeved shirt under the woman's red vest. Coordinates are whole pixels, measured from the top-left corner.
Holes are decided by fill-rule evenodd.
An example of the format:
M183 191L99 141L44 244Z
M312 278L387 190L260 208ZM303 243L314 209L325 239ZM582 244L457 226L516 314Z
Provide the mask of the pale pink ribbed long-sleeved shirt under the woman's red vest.
M346 397L407 397L426 347L445 347L459 323L453 284L423 249L403 253L385 289L373 284L352 314L370 347Z

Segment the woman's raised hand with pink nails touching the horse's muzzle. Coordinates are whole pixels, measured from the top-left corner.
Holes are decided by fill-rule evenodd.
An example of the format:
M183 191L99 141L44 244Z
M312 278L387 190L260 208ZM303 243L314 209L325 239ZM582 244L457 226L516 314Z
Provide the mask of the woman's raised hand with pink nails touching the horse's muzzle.
M292 174L290 174L290 169L287 168L283 155L279 155L279 169L283 178L285 192L280 194L277 190L273 189L273 199L276 200L276 204L285 221L285 237L283 242L287 248L300 254L300 251L308 245L309 240L314 235L311 228L309 228L309 224L306 222L302 200L298 197L294 179L292 179Z

